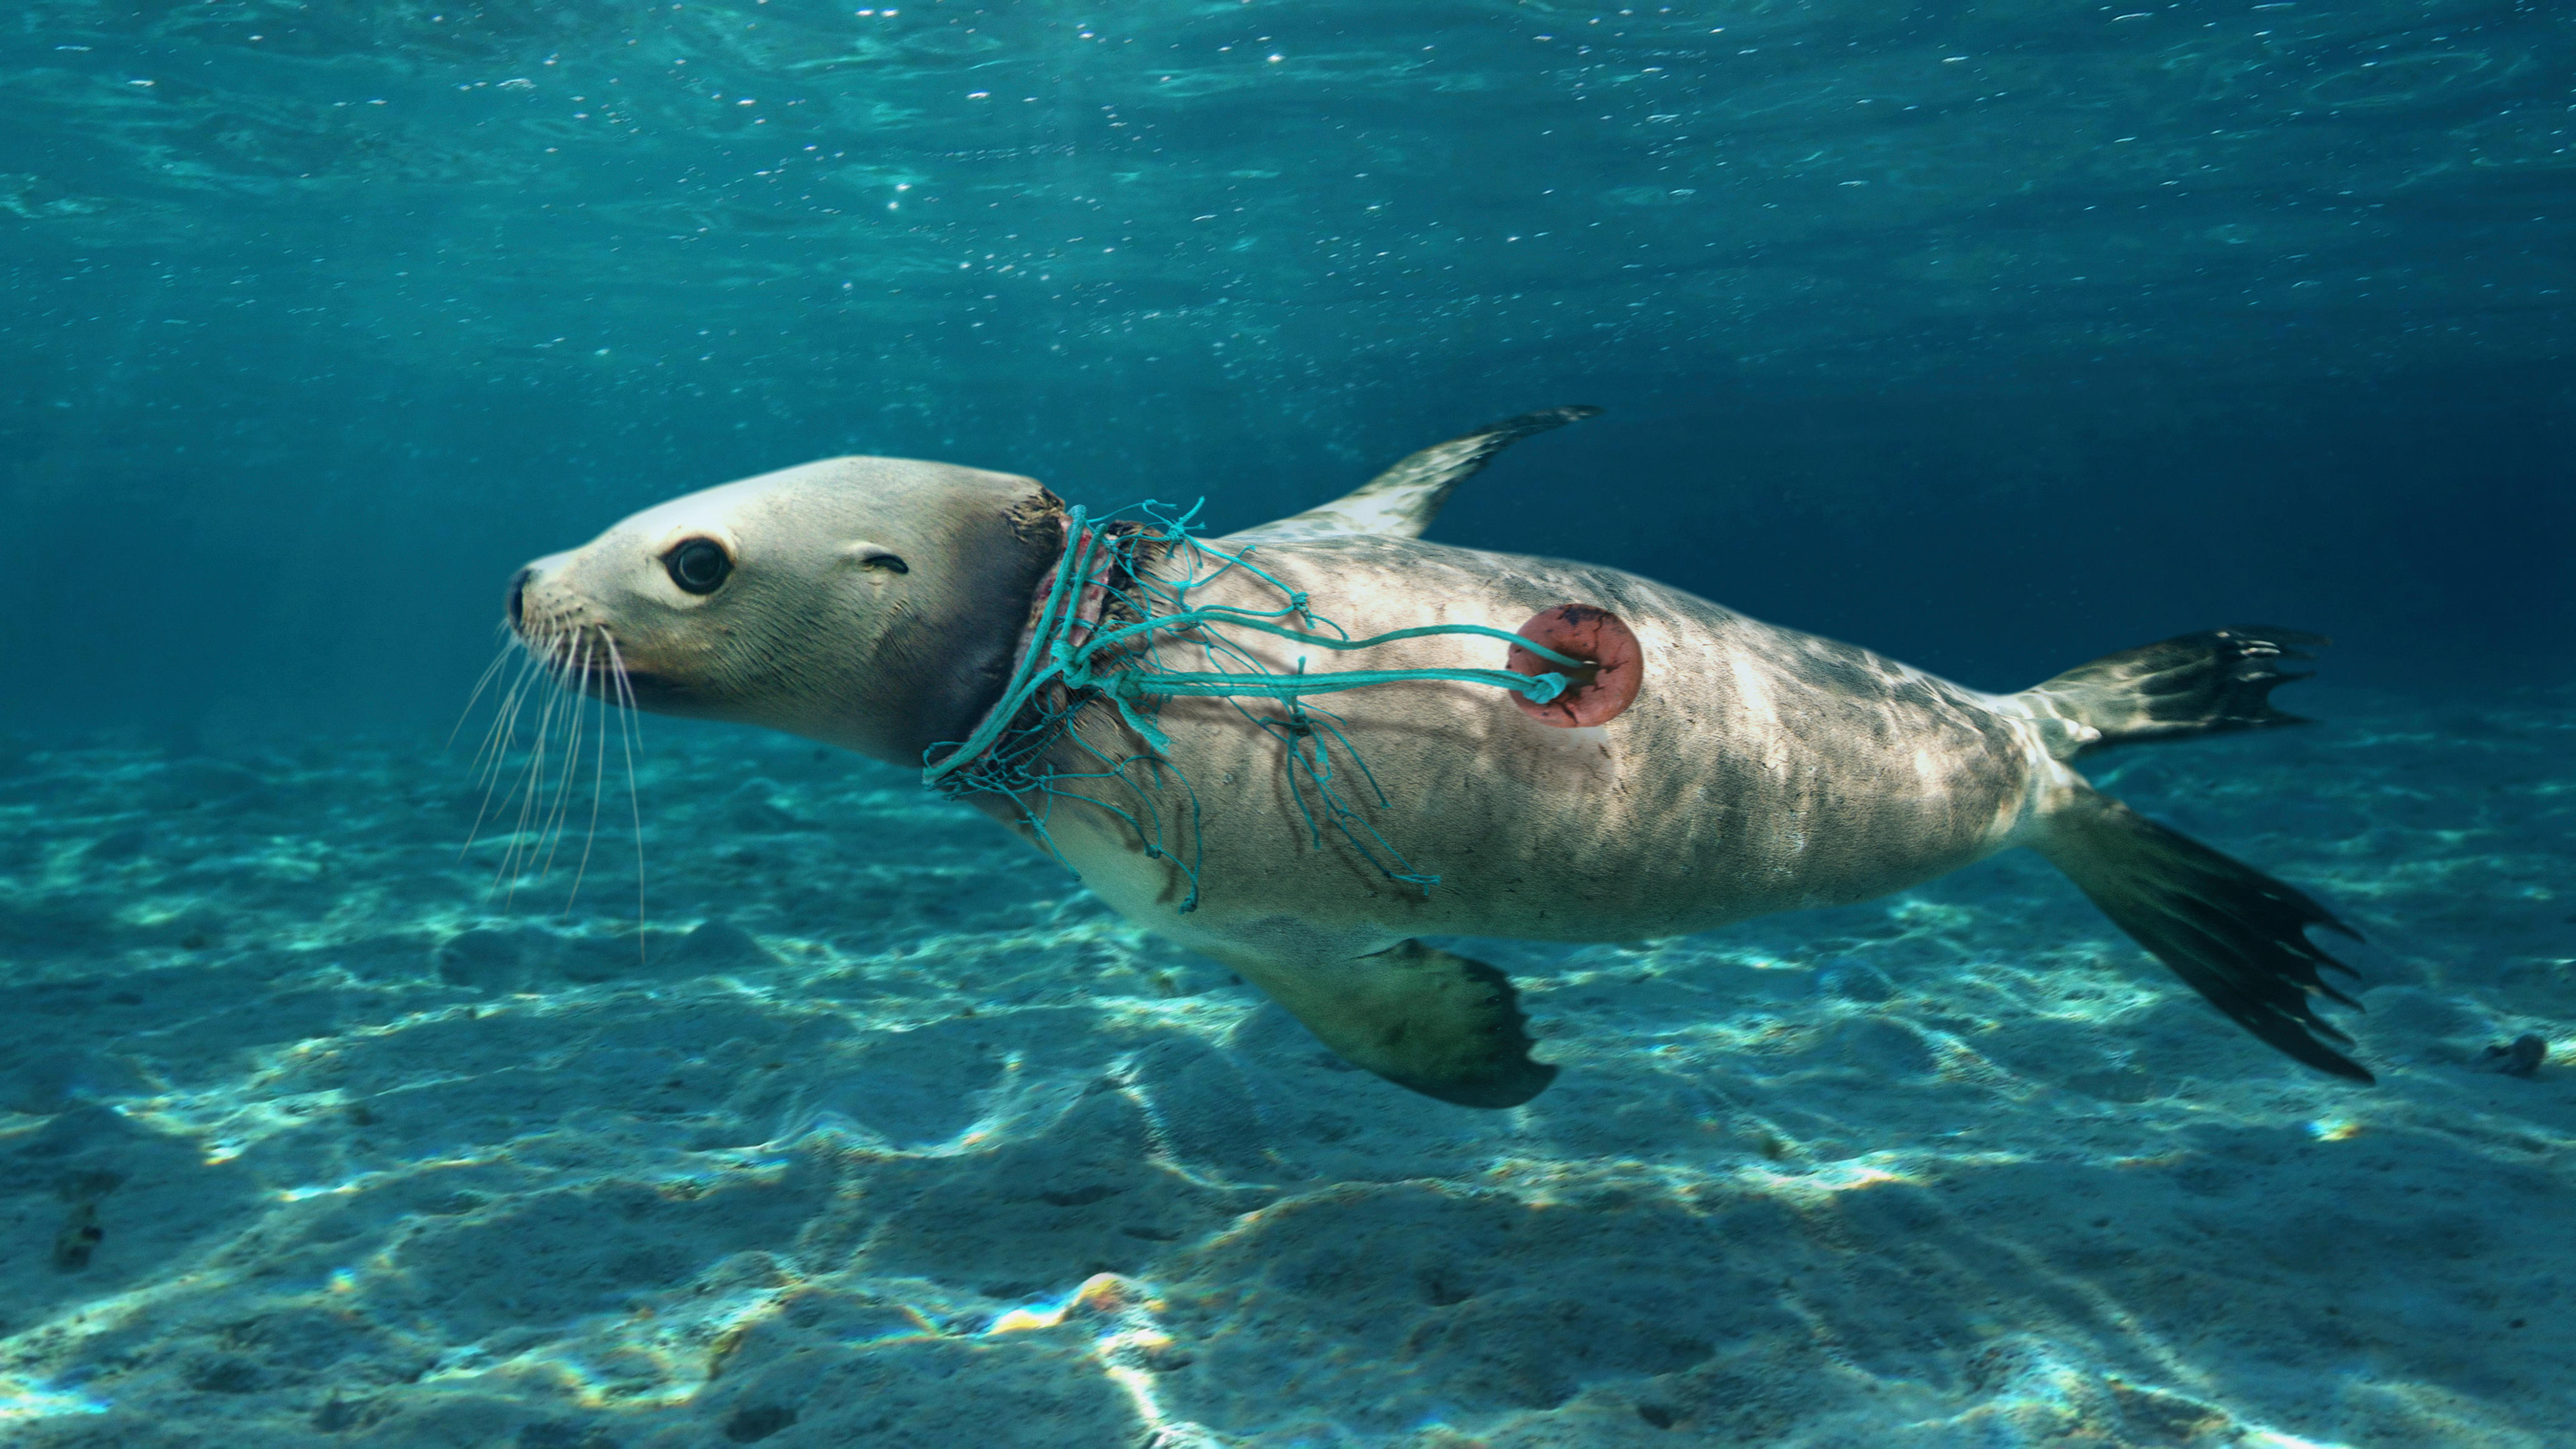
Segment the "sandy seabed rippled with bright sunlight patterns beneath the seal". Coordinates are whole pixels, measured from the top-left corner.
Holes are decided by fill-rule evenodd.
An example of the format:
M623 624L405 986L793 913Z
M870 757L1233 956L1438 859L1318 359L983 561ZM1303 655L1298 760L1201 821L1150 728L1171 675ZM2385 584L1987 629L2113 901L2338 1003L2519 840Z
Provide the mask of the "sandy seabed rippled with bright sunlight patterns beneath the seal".
M641 939L461 757L5 749L0 1446L2576 1444L2576 695L2300 708L2094 777L2370 934L2380 1086L2014 852L1445 942L1515 1112L786 739L647 726Z

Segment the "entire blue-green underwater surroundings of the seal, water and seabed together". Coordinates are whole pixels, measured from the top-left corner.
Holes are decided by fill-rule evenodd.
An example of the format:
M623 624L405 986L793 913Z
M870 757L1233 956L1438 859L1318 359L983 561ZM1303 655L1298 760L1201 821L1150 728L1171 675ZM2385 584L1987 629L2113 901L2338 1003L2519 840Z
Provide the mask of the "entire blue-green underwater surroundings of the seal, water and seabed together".
M2561 10L33 0L0 67L0 1446L2576 1444ZM1231 530L1558 404L1427 538L1986 690L2331 633L2318 723L2084 770L2362 929L2378 1086L2007 852L1443 937L1561 1066L1445 1107L909 770L477 754L510 574L690 489Z

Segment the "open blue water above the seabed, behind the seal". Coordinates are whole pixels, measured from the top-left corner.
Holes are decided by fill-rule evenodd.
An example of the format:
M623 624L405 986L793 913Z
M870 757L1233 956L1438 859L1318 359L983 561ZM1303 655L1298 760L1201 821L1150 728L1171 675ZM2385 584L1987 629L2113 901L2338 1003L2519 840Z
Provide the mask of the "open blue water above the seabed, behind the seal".
M829 453L1435 538L1989 687L2566 677L2545 5L106 5L5 21L5 726L443 728L500 584Z

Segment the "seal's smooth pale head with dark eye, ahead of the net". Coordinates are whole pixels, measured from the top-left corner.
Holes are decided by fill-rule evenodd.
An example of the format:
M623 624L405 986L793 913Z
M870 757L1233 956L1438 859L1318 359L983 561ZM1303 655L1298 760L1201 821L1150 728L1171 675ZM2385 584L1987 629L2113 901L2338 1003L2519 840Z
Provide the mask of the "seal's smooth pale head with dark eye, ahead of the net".
M827 458L528 564L510 628L590 692L920 764L999 697L1061 515L1010 474Z

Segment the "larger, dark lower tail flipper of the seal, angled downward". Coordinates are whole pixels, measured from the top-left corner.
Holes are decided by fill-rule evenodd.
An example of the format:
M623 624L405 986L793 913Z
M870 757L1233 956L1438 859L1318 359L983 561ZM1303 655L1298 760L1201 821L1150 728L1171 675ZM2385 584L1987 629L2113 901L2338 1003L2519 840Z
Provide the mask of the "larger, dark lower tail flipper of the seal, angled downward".
M2303 891L2110 795L2079 790L2050 811L2045 831L2035 842L2040 854L2239 1027L2318 1071L2370 1081L2352 1058L2326 1045L2352 1045L2352 1037L2326 1024L2313 1001L2326 996L2360 1006L2318 968L2354 970L2308 939L2308 927L2352 939L2362 939L2360 932Z

